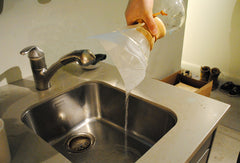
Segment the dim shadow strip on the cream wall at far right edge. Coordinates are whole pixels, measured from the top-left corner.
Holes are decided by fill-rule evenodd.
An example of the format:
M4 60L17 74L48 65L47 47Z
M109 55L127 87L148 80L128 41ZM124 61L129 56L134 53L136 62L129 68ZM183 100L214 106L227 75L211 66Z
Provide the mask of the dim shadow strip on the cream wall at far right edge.
M231 20L231 32L230 32L230 43L231 43L231 60L229 71L235 77L240 76L240 0L237 0L234 6Z

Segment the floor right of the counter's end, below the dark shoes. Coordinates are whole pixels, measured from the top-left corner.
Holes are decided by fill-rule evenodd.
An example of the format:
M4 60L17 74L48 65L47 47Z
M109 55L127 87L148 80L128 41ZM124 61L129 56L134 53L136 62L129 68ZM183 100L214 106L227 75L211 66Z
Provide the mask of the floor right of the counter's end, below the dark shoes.
M228 103L231 108L217 129L208 162L237 163L240 152L240 97L229 97L215 90L211 98Z

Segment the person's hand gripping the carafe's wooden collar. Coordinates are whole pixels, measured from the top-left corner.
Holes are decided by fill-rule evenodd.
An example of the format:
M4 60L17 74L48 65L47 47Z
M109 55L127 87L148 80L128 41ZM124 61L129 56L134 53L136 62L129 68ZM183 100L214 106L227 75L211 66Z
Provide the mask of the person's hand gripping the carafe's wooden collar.
M128 25L132 25L143 20L152 35L157 35L158 28L153 19L154 0L129 0L125 11L125 18Z

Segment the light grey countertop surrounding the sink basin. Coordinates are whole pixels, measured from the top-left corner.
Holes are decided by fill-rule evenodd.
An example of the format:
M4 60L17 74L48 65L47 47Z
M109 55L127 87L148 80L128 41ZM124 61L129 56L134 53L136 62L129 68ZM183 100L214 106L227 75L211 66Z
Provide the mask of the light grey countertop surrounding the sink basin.
M30 106L86 81L101 81L124 89L116 68L106 63L92 71L69 64L53 76L52 87L46 91L36 91L32 77L0 87L0 117L5 122L12 162L69 162L28 129L21 122L21 114ZM137 162L189 161L229 109L228 104L150 78L145 78L131 93L170 110L178 119Z

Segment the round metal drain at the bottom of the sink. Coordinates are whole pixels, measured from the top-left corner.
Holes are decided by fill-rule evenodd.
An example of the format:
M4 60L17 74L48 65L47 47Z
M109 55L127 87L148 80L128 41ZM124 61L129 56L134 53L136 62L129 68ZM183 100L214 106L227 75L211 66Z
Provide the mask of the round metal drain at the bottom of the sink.
M95 142L93 135L89 133L80 133L72 135L66 142L66 149L72 153L78 153L87 150Z

